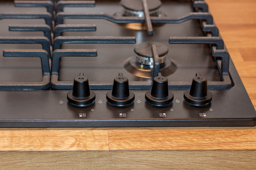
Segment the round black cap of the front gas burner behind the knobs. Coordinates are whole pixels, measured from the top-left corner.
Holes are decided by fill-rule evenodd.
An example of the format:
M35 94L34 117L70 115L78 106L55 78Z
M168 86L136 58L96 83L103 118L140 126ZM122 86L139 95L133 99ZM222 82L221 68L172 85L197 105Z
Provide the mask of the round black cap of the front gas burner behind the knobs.
M168 48L157 42L143 42L134 48L134 52L142 57L152 57L151 46L152 44L157 45L157 51L159 57L164 56L168 53Z

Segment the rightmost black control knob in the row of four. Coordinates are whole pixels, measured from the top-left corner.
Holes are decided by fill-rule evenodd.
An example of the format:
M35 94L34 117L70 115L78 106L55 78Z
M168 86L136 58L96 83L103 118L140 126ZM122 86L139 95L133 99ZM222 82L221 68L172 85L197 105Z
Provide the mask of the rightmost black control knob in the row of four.
M192 104L208 104L212 100L212 94L207 90L207 79L196 73L193 78L191 88L185 91L184 99Z

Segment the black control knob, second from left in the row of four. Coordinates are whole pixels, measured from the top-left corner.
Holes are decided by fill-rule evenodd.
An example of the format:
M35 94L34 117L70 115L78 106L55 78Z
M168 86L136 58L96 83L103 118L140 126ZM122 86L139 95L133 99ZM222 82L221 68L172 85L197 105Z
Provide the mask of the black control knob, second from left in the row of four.
M129 90L128 78L122 73L114 79L113 89L107 93L107 100L116 105L126 105L134 101L134 93Z

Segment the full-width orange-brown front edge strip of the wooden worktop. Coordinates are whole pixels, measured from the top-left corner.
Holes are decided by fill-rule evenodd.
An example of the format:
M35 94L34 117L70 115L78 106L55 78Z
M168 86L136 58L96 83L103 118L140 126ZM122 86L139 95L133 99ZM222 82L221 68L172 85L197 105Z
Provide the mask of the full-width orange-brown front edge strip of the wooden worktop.
M0 151L256 150L256 129L0 130Z

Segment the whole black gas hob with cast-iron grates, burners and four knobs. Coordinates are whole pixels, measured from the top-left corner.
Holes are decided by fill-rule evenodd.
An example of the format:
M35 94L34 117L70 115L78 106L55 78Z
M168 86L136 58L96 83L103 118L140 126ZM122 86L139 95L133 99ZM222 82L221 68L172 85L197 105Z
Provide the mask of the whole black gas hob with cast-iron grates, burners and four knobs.
M256 125L204 1L0 3L0 127Z

